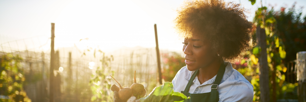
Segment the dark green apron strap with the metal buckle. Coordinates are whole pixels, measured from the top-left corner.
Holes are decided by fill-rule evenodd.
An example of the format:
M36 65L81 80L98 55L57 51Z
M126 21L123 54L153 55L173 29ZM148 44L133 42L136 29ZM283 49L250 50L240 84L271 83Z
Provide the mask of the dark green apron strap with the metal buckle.
M215 82L214 82L213 85L211 85L210 102L217 102L217 97L219 97L218 94L217 94L217 88L218 88L218 85L221 82L221 79L223 78L223 75L224 75L224 72L225 72L225 67L226 67L226 65L225 65L225 62L223 60L223 62L220 65L220 68L219 68L217 77L215 79Z

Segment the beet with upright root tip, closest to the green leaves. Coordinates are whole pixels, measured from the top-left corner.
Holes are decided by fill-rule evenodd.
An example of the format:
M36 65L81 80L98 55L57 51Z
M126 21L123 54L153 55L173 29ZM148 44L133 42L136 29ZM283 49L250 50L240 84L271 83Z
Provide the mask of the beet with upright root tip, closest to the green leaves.
M131 86L132 94L137 98L140 99L146 95L147 90L144 89L144 85L140 83L136 83L136 71L134 72L134 84Z

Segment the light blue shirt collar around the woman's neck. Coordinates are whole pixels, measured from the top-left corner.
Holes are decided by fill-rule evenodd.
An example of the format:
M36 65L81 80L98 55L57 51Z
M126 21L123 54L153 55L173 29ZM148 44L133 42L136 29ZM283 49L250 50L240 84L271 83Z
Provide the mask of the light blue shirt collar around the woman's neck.
M224 75L221 79L221 82L224 82L230 76L230 74L233 72L232 64L230 62L225 62L225 64L226 64L225 72L224 72ZM191 78L191 76L194 72L195 71L189 71L189 74L185 78L189 81L189 79ZM207 80L202 85L200 85L198 77L196 76L196 78L194 78L194 80L192 82L198 84L199 86L203 86L203 85L206 85L206 84L213 84L215 82L216 77L217 77L217 75L215 75L213 78Z

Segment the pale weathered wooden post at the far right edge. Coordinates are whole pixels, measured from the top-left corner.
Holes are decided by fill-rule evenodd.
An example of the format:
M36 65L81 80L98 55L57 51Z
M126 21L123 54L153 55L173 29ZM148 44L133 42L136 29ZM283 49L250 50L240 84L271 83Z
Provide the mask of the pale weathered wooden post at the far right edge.
M299 102L306 101L306 51L297 52L297 82L299 83L297 94Z

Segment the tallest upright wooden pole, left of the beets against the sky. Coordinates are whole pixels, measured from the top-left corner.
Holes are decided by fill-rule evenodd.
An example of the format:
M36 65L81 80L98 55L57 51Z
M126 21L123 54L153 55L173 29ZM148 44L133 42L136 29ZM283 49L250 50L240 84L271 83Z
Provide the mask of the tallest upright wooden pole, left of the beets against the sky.
M49 90L49 102L54 102L53 100L53 68L54 68L54 23L51 23L51 59L50 59L50 90Z

